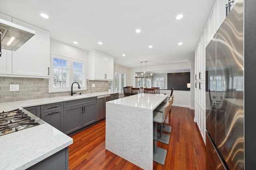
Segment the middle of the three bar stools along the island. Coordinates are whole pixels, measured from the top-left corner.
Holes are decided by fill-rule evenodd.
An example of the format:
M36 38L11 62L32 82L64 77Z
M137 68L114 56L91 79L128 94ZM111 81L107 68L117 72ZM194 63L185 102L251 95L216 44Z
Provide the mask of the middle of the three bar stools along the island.
M157 113L163 113L165 115L165 120L166 120L166 117L168 116L169 114L169 111L170 111L170 108L172 107L172 98L170 99L170 102L168 102L165 106L162 107L162 110L154 110L154 113L157 112ZM167 111L166 111L167 109ZM165 113L164 113L165 112ZM165 121L164 120L164 121ZM160 130L160 133L157 134L157 141L161 142L161 143L165 143L165 144L169 144L169 141L170 141L170 135L166 135L163 133L163 125L164 125L164 122L163 123L160 123L160 126L159 126L159 130ZM165 126L167 127L167 126ZM172 127L171 126L168 126L170 127L170 130L172 130ZM167 129L167 128L166 128Z

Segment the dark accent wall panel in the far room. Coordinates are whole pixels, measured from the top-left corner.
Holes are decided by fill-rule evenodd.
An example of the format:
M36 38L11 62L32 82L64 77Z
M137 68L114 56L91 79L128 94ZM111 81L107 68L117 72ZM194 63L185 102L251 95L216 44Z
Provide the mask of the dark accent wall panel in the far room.
M187 88L187 83L190 83L190 72L167 74L167 89L190 91L190 88Z

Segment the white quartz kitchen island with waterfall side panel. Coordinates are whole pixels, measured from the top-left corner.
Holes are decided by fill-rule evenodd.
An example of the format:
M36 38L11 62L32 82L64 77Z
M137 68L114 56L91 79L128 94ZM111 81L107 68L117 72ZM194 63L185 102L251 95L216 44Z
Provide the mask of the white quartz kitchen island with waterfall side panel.
M142 93L106 102L106 149L152 170L153 111L167 98Z

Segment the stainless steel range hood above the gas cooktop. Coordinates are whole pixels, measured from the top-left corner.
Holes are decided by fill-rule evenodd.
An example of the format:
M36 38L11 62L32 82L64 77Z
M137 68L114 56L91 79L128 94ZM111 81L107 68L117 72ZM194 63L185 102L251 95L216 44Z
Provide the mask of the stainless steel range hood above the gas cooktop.
M31 37L35 35L35 31L22 27L15 23L0 19L0 56L1 46L2 49L16 51L24 43L26 43ZM13 41L10 43L10 40ZM2 42L2 43L1 43Z

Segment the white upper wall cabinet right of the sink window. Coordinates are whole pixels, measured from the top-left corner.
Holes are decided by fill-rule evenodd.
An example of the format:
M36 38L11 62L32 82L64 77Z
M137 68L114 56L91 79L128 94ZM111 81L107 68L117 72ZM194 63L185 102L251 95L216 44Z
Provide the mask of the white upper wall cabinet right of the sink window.
M88 72L89 80L113 80L114 58L100 51L89 51Z

